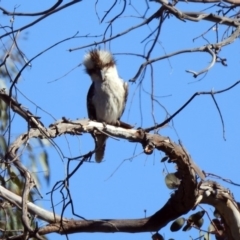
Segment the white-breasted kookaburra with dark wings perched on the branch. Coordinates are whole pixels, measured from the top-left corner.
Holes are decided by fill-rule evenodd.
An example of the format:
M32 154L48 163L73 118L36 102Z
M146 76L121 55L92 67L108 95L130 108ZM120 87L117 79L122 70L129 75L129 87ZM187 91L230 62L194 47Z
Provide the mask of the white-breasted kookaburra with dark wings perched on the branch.
M128 84L117 72L112 54L105 50L91 50L83 64L92 80L87 94L88 117L91 120L116 125L125 109ZM101 162L104 156L107 136L95 134L95 159Z

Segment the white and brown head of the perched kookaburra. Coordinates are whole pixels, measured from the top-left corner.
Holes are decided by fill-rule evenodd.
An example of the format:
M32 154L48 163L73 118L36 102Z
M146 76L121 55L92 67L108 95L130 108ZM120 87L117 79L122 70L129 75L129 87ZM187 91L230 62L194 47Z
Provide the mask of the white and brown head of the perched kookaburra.
M116 62L112 54L105 50L90 50L83 60L86 72L94 82L103 82L118 77Z

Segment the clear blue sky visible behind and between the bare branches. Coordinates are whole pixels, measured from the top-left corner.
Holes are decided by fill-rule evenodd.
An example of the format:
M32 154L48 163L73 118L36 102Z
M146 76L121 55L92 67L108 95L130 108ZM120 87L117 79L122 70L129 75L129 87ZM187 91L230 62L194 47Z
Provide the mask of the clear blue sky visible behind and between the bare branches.
M142 5L136 0L131 2L139 13L144 13L145 1L142 1ZM39 0L35 0L34 3L26 0L1 1L1 6L9 11L13 11L14 6L18 5L18 12L38 12L53 4L54 1L43 2ZM79 36L100 35L106 29L106 22L115 16L122 4L122 2L119 2L105 22L99 23L94 9L95 1L82 1L22 31L19 37L19 46L27 58L31 59L54 43L71 37L77 32L79 32ZM103 4L102 1L97 4L97 12L100 17L105 14L109 6L106 3ZM158 8L158 4L149 2L149 6L147 16L150 16ZM178 7L183 11L200 11L207 5L201 6L200 4L194 5L184 2L179 3ZM214 8L210 10L214 11ZM139 15L131 5L127 5L126 12L113 25L113 35L142 21L141 18L134 16ZM1 14L1 24L9 24L10 18ZM34 17L15 17L14 28L17 29L34 19ZM146 44L147 41L144 43L141 43L141 41L151 33L151 29L155 29L157 23L158 20L154 20L148 26L117 38L111 42L110 46L109 44L100 45L116 54L119 75L125 81L133 78L144 60L122 53L142 54L144 48L149 49L151 44L149 40L152 39L147 40L149 41L148 44ZM162 27L159 43L153 51L152 58L206 44L203 38L195 41L193 41L193 38L201 35L212 25L212 23L204 21L199 23L182 22L172 16ZM219 32L223 33L224 30L225 28L220 26ZM215 36L216 32L212 29L206 35L206 38L210 42L214 42ZM6 38L4 41L6 40L8 39ZM82 62L84 54L90 48L73 52L68 50L99 40L100 38L95 37L75 38L44 53L32 62L31 68L29 67L23 72L17 87L31 101L50 112L55 119L61 119L63 116L72 120L86 118L86 94L91 81L85 74L83 67L77 66ZM239 52L239 40L236 40L220 53L221 57L227 58L228 67L215 64L204 78L199 76L197 79L186 73L185 70L199 71L208 66L211 58L207 53L186 53L154 63L153 83L156 99L167 109L169 114L172 114L196 91L220 90L232 85L239 80ZM71 69L74 70L71 71ZM71 72L64 76L69 71ZM58 80L54 81L56 79ZM166 118L165 110L156 102L153 111L151 107L149 92L151 92L152 82L149 68L143 79L142 87L138 87L138 83L139 79L136 83L130 83L127 108L122 119L136 127L148 127L154 124L154 114L156 122L162 122ZM226 141L223 139L219 114L210 96L197 97L174 119L174 127L169 125L160 131L160 134L169 136L175 142L180 139L194 161L205 172L230 178L234 182L240 182L238 168L240 157L238 151L240 142L239 87L237 86L229 92L216 96L225 123ZM23 96L19 95L18 100L33 113L41 116L41 120L46 126L55 122L45 112L36 110L36 107ZM18 119L15 124L13 139L21 132L26 131L24 121ZM85 154L93 149L93 140L87 134L84 136L62 136L55 139L55 142L59 144L64 155L68 157ZM41 188L44 201L41 201L40 204L50 209L49 195L45 195L45 193L51 189L56 181L64 178L66 159L61 159L53 147L47 149L51 168L51 182L50 186L43 185ZM150 156L141 154L133 157L141 152L142 148L139 144L109 139L105 160L101 164L94 162L84 164L71 179L70 187L75 212L87 219L127 219L144 217L145 209L147 210L147 216L160 209L171 194L164 183L164 172L175 171L174 166L173 164L165 166L160 163L164 154L157 151ZM39 173L39 176L41 174ZM239 191L236 187L222 184L229 187L235 198L239 199ZM59 197L59 195L56 195L55 203L60 201ZM211 213L212 208L210 206L204 207ZM60 213L60 209L61 206L58 206L58 213ZM71 209L67 210L66 217L73 217ZM193 238L198 236L196 230L181 235L171 233L169 226L162 229L160 233L166 239L189 235ZM69 237L70 239L80 237L86 240L118 240L123 237L125 240L142 240L151 239L151 234L116 233L113 236L112 234L81 233ZM49 239L56 238L60 239L64 236L49 235Z

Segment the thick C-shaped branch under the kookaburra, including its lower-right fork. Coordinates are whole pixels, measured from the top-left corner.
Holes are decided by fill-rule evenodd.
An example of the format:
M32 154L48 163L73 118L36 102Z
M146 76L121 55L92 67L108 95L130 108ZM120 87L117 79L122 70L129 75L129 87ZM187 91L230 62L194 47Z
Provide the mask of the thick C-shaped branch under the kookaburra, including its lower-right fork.
M51 223L39 229L40 235L50 232L61 234L70 234L75 232L149 232L158 231L166 226L170 221L176 219L182 214L193 209L197 204L209 203L216 208L226 205L230 201L231 205L222 208L221 212L228 226L229 237L236 236L238 225L233 223L228 217L225 217L224 211L232 211L234 218L239 218L239 211L234 211L236 203L229 190L210 181L198 183L195 172L201 172L193 163L192 159L181 146L173 143L169 138L158 134L149 134L141 129L124 129L111 125L103 126L102 123L85 120L66 121L60 120L52 125L46 131L50 138L62 134L80 135L84 132L92 132L99 129L106 134L124 138L130 142L139 142L144 148L146 154L151 154L154 149L165 152L171 162L177 165L177 176L181 179L178 189L171 195L167 203L155 214L143 219L122 219L122 220L72 220L64 219L61 223ZM16 153L22 144L28 138L45 138L45 135L39 129L30 129L28 133L22 134L9 148L9 153ZM197 170L196 170L197 167ZM0 192L1 194L1 192ZM3 196L4 197L4 196ZM230 208L230 209L229 209ZM237 222L238 223L238 222ZM234 238L233 238L234 239ZM237 238L235 238L237 239Z

